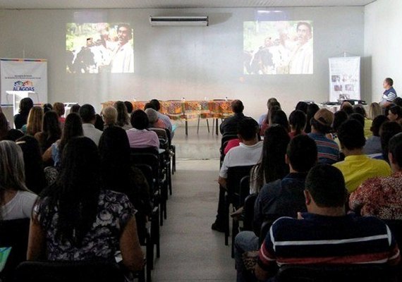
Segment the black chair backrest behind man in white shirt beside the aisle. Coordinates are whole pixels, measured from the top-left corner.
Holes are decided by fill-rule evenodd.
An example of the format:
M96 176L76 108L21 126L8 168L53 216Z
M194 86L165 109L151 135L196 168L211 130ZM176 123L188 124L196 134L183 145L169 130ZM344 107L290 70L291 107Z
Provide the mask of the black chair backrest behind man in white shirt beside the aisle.
M244 176L250 176L252 166L231 166L228 168L228 178L226 187L228 189L229 200L235 207L242 205L240 199L240 180Z

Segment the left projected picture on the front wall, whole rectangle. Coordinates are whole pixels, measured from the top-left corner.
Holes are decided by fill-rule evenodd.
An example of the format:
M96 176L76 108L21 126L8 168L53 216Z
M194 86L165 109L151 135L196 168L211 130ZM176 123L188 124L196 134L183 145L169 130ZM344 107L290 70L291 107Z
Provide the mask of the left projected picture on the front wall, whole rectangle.
M133 73L133 28L127 23L67 23L67 73Z

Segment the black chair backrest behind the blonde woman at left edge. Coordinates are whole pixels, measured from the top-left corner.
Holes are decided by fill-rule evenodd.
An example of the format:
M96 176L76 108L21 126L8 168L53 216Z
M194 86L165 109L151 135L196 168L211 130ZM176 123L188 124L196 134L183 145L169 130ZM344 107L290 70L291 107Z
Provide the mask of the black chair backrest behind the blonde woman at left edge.
M27 257L30 219L0 221L0 247L12 247L1 276L8 276Z

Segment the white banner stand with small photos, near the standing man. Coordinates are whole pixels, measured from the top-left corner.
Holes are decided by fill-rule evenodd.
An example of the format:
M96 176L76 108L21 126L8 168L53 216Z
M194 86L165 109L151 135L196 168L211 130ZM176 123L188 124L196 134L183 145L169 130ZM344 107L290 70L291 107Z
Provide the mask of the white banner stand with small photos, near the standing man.
M360 100L360 57L329 58L329 101Z

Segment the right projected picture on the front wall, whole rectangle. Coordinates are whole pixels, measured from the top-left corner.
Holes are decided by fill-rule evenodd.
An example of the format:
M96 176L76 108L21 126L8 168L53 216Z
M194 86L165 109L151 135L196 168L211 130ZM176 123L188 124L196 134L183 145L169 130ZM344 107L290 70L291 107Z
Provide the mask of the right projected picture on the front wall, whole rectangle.
M312 74L311 20L243 23L244 73Z

